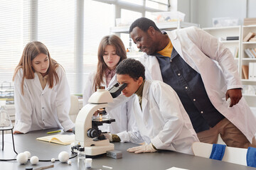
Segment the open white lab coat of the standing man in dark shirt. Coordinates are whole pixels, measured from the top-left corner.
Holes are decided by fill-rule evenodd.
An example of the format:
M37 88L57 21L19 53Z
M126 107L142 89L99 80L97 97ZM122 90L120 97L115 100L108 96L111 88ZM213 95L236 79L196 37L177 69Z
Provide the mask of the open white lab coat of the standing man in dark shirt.
M166 33L183 60L201 74L213 106L252 142L256 132L256 120L245 98L241 98L232 108L228 108L225 101L228 89L242 88L237 65L230 50L200 28L183 28ZM146 67L147 79L163 81L155 56L144 54L141 62Z

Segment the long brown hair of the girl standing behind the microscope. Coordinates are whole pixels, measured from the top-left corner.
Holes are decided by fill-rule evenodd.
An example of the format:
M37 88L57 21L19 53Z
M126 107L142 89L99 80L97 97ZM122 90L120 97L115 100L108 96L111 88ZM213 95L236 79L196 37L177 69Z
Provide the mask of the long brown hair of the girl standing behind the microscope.
M97 74L95 75L94 80L94 87L96 90L97 86L100 86L100 83L103 82L103 75L105 74L105 69L107 69L107 64L103 60L104 50L107 45L112 45L115 50L116 54L120 57L119 62L122 60L127 59L127 53L124 47L124 43L117 35L107 35L100 41L100 45L98 48L98 63L97 63ZM117 65L119 64L117 63Z

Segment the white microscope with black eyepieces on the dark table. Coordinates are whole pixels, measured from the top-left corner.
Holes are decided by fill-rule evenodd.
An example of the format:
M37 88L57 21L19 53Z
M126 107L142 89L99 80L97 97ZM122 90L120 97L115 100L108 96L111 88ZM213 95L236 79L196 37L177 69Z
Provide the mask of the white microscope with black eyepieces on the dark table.
M97 91L90 96L88 104L80 110L75 120L75 146L72 147L72 152L74 149L78 150L78 147L85 147L87 157L94 157L114 150L114 144L110 143L104 135L101 135L102 132L97 127L103 123L112 123L115 120L104 118L104 116L92 119L92 115L95 114L95 111L100 112L99 115L105 115L107 103L119 96L126 86L127 84L119 86L117 83L108 90L105 90L105 87L97 87Z

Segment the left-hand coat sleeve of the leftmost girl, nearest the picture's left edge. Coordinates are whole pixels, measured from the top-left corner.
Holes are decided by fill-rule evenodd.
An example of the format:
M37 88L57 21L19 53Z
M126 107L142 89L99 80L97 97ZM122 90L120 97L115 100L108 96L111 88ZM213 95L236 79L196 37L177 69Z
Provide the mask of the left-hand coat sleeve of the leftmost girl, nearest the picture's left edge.
M18 70L14 79L14 106L15 106L15 125L14 131L27 133L31 129L32 123L32 111L33 104L31 102L31 95L26 86L26 82L23 84L23 92L21 94L21 69Z

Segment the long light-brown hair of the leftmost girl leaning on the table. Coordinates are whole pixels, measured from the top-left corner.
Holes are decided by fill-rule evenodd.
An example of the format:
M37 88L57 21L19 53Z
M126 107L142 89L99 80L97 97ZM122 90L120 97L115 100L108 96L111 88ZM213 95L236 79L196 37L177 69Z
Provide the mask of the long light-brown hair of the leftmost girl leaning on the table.
M48 73L48 84L50 89L53 88L53 78L55 78L55 83L57 84L59 81L59 77L55 69L59 66L59 64L50 58L50 53L42 42L38 41L33 41L33 42L28 42L26 47L23 50L23 53L21 55L21 60L18 63L15 72L14 72L14 78L18 72L19 69L22 69L23 71L23 77L21 80L21 94L24 94L23 91L23 84L24 84L24 79L34 79L34 73L35 70L32 67L32 60L36 58L39 54L43 53L44 55L48 55L48 60L49 60L49 68L47 70Z

